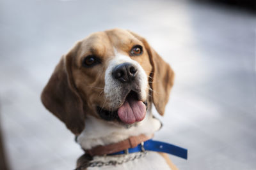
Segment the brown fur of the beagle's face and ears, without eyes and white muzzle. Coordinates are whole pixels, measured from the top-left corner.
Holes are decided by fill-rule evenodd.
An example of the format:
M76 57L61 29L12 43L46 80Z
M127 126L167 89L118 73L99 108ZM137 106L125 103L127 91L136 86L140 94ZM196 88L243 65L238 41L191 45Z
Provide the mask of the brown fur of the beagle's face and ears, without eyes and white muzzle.
M163 115L173 85L173 71L141 36L122 29L96 32L77 44L61 57L54 73L42 92L42 103L56 117L64 122L74 134L84 129L86 115L99 118L95 106L104 104L104 74L107 62L115 52L129 56L132 46L143 46L141 56L131 57L136 60L147 74L152 92L152 100L159 114ZM82 66L84 57L97 55L102 60L90 69ZM149 95L148 95L149 97ZM106 109L108 103L105 104Z

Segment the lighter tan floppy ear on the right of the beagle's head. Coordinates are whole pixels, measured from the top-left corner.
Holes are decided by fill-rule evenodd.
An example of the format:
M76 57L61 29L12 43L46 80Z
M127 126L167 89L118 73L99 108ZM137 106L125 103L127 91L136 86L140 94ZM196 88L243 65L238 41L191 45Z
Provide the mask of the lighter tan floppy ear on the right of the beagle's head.
M147 50L152 65L152 73L150 73L150 82L152 83L149 83L149 85L152 89L153 103L157 112L163 116L173 86L174 72L169 64L165 62L158 53L150 47L150 45L148 45L145 38L138 36L138 34L135 34L134 32L131 32L131 34L138 38Z

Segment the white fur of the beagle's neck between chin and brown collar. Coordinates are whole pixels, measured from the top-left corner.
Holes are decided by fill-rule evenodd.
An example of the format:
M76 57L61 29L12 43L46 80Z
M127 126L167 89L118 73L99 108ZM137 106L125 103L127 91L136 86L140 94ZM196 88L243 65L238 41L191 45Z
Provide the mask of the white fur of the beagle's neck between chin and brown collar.
M84 150L90 150L95 146L118 143L131 136L154 134L160 128L161 122L154 118L151 113L147 113L144 120L129 128L88 117L86 119L86 128L77 137L77 142Z

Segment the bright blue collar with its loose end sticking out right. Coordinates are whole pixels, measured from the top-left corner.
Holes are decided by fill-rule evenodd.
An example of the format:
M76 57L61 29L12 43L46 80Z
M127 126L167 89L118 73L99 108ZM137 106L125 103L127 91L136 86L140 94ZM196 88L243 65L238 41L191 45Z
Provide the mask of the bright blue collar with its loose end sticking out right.
M161 141L153 141L149 139L134 148L128 148L127 150L122 150L120 152L111 153L108 155L120 155L124 153L134 153L143 152L145 150L155 151L155 152L165 152L183 159L188 158L188 150L185 148L180 148L179 146L172 145L170 143L164 143Z

